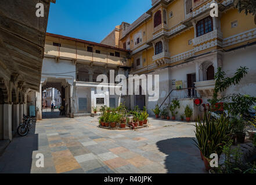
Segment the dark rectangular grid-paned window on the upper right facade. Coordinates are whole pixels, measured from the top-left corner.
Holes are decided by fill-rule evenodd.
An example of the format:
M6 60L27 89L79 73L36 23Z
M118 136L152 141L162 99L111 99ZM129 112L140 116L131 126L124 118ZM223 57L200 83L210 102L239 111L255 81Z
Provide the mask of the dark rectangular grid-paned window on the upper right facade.
M197 36L201 36L213 30L212 17L204 18L196 24Z

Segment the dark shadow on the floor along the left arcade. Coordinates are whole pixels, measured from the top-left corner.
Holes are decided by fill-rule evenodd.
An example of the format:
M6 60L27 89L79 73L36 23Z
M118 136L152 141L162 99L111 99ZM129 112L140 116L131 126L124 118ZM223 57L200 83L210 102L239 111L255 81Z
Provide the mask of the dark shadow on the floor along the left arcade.
M16 135L0 157L0 173L30 173L33 151L38 150L35 125L27 136ZM17 154L19 153L19 154Z

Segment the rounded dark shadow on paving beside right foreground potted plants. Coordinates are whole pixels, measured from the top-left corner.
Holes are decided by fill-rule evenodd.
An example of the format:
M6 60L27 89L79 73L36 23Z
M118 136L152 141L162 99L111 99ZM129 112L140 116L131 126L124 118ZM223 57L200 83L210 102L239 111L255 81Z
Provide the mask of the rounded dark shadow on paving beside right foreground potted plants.
M164 165L168 173L207 173L194 138L172 138L156 143L158 149L167 154Z

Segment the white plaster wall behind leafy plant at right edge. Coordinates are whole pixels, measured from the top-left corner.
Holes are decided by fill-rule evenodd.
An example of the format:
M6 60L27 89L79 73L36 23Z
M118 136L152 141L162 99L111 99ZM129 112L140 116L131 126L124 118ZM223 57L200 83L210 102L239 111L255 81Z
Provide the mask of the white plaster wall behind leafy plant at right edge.
M241 93L256 97L256 46L223 54L223 71L227 76L235 75L240 66L247 66L248 74L238 85L230 86L225 94Z

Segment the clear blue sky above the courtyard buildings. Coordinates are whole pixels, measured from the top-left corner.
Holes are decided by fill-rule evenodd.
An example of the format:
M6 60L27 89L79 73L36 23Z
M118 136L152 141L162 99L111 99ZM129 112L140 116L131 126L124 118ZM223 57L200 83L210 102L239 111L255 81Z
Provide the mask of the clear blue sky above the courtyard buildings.
M151 8L151 0L56 0L47 32L100 42L116 25L134 22Z

